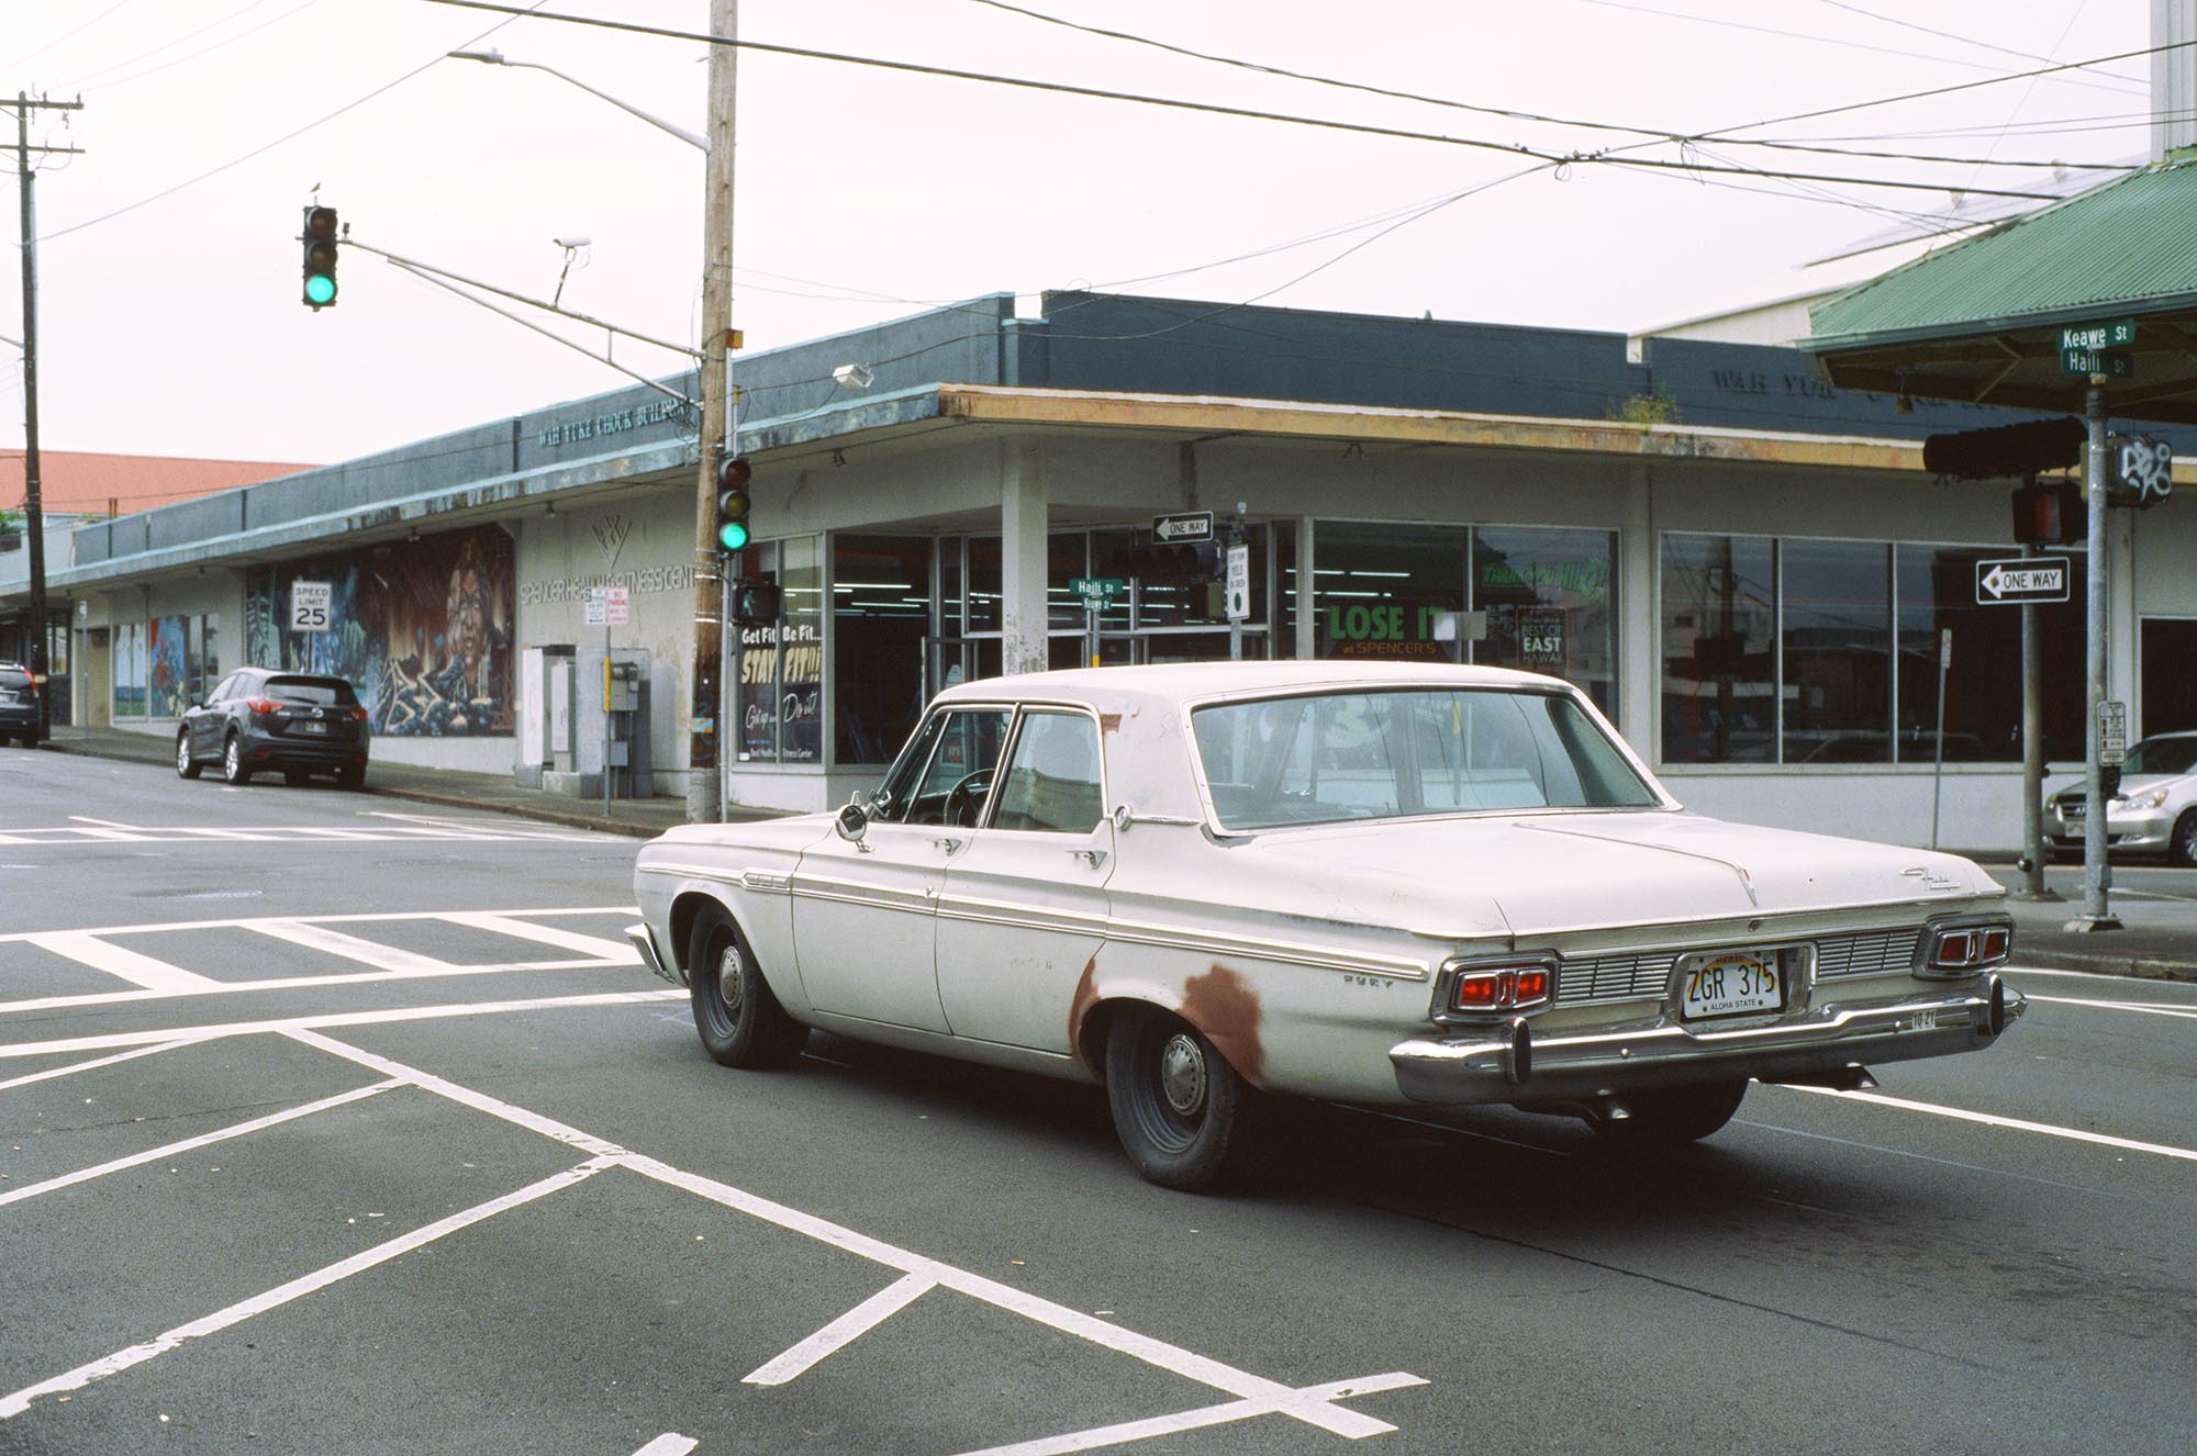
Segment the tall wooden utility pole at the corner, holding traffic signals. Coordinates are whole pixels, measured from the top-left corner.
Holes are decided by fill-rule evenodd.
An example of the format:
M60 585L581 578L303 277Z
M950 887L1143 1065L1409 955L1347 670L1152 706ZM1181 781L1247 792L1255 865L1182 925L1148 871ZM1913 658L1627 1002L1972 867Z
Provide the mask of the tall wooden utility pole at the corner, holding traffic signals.
M740 31L738 0L710 0L710 35L729 42ZM725 593L716 545L716 472L734 455L732 365L732 123L738 97L738 48L710 46L710 160L703 189L701 275L701 463L694 483L694 687L688 703L688 824L725 817L725 760L734 733L725 723L723 681Z

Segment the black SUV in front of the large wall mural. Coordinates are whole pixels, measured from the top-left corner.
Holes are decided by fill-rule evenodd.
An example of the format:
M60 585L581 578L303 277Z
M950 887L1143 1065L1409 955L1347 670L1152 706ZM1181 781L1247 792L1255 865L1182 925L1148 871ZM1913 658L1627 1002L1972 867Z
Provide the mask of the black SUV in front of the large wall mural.
M334 773L345 788L367 782L367 709L341 676L237 668L185 709L176 733L176 773L196 780L220 764L231 784L255 773L281 773L303 784Z

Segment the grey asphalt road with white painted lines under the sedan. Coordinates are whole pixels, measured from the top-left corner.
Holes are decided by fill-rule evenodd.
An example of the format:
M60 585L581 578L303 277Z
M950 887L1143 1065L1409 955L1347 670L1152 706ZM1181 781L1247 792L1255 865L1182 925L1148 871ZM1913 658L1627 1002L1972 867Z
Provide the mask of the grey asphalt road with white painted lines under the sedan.
M631 861L0 755L0 1452L2197 1449L2197 986L2021 971L1663 1162L1327 1109L1186 1197L1085 1087L712 1065Z

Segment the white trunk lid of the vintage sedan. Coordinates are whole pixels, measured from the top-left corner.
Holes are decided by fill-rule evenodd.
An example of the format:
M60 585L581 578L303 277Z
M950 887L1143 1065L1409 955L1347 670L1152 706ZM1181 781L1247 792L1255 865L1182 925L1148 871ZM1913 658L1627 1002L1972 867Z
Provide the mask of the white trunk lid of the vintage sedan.
M1960 903L1999 885L1958 854L1694 813L1426 819L1261 837L1259 852L1408 898L1413 929L1551 936L1624 925ZM1305 876L1283 876L1303 885ZM1314 881L1316 883L1316 881ZM1338 887L1340 889L1340 887ZM1358 898L1358 896L1353 896Z

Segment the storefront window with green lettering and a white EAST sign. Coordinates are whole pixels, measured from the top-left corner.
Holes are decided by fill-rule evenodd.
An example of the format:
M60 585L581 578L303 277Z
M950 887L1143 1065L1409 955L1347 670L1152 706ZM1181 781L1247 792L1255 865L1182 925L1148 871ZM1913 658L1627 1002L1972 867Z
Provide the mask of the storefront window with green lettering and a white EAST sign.
M1617 538L1487 525L1472 534L1472 611L1487 635L1472 661L1547 672L1617 707Z

